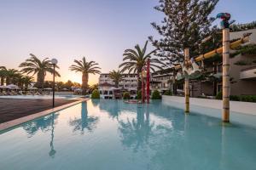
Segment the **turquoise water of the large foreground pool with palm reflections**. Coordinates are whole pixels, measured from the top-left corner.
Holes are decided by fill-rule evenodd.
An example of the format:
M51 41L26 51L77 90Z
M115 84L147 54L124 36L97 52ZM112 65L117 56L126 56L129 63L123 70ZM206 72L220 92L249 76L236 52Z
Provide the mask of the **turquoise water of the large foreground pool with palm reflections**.
M256 127L89 100L0 133L0 169L256 169Z

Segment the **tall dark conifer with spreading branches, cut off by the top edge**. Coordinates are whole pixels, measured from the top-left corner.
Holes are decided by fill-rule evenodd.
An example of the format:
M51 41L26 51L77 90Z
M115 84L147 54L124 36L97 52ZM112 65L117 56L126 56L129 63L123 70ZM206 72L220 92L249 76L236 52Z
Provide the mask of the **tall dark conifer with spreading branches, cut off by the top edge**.
M159 3L155 9L165 14L164 20L160 25L151 24L160 39L148 37L157 48L156 55L172 66L183 62L184 48L190 49L192 57L200 54L202 40L216 31L215 26L211 28L214 19L209 15L218 0L160 0Z

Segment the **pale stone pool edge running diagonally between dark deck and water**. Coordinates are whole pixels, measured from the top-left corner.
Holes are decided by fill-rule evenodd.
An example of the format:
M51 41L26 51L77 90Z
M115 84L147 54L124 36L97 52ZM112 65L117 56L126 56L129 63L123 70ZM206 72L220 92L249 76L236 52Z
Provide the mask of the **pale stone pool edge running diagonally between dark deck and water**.
M40 111L40 112L34 113L32 115L23 116L23 117L20 117L18 119L15 119L15 120L12 120L9 122L3 122L0 124L0 131L9 129L11 127L16 127L24 122L29 122L29 121L36 119L38 117L41 117L41 116L49 115L50 113L55 112L55 111L61 111L63 109L66 109L67 107L77 105L77 104L87 101L87 100L89 100L89 99L80 99L79 101L75 101L75 102L69 103L67 105L61 105L61 106L58 106L58 107L55 107L55 108L52 108L52 109L49 109L46 111Z

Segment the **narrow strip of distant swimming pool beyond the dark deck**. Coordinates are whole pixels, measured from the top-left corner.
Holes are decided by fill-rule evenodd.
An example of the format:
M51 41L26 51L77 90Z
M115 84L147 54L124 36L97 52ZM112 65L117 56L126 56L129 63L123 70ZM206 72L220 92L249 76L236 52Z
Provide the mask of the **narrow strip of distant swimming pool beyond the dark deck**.
M81 95L55 95L55 99L76 99L82 97ZM52 95L3 95L0 96L5 99L52 99Z

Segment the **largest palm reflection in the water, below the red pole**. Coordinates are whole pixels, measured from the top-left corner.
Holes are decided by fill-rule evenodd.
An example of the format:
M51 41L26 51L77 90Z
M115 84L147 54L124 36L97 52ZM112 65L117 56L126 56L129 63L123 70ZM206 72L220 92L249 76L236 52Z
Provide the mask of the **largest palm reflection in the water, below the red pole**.
M144 108L138 108L137 121L127 118L127 122L119 121L119 132L121 133L121 142L127 147L137 151L148 144L148 138L153 136L154 122L149 122L148 110L144 112Z

